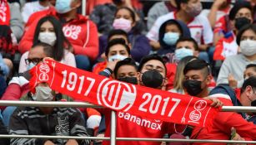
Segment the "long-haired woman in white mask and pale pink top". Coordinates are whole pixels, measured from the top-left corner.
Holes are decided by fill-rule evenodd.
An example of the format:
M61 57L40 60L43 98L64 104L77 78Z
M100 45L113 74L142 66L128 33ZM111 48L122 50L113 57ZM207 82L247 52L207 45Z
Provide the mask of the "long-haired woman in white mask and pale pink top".
M53 46L53 59L62 62L63 64L76 67L76 61L69 41L63 35L62 25L52 16L43 17L39 20L36 30L34 32L33 44L44 42ZM28 51L25 52L21 58L19 72L22 73L33 66L26 64L25 60L28 58Z

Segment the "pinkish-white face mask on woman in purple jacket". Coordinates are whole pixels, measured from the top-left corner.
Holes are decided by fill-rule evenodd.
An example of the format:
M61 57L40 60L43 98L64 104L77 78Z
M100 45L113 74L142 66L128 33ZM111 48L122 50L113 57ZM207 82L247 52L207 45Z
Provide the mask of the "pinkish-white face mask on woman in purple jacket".
M132 22L121 17L113 21L113 28L129 32L132 30Z

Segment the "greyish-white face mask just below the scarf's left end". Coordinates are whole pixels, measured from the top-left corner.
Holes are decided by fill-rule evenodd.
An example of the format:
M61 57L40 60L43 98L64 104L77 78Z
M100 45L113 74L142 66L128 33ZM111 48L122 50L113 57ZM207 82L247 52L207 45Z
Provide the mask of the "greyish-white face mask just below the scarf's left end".
M33 94L33 99L36 101L52 101L52 89L49 87L37 86L36 93Z

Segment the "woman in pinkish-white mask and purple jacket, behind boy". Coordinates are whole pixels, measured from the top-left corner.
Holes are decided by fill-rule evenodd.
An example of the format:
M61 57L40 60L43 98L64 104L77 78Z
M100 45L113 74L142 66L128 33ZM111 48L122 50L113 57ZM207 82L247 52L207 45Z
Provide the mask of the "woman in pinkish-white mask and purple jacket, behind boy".
M115 13L113 20L113 29L121 29L128 32L128 41L131 43L131 56L134 60L139 61L143 56L147 56L151 47L149 46L148 38L141 34L137 29L137 22L135 13L128 7L120 7ZM108 36L100 36L99 43L105 50L108 44Z

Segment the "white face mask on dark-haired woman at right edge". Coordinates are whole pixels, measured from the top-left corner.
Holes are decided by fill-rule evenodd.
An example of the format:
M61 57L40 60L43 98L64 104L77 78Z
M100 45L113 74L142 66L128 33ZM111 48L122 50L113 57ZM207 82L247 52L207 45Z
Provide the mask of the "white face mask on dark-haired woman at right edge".
M253 56L256 54L256 41L249 39L241 41L240 49L244 56Z

